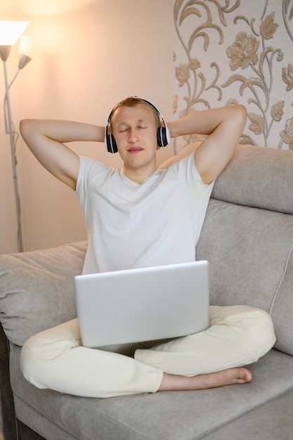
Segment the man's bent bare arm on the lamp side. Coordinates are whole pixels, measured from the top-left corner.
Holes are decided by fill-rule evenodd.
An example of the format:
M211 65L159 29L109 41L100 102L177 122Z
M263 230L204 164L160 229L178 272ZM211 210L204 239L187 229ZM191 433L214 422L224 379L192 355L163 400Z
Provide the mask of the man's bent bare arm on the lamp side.
M104 127L51 119L23 119L20 133L32 153L57 179L75 190L79 156L64 143L104 141Z

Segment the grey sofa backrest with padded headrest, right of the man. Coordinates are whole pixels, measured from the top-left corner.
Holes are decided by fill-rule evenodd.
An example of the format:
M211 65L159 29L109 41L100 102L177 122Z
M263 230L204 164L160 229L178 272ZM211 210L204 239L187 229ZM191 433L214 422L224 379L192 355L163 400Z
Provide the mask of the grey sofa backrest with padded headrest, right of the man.
M271 313L275 347L293 355L293 152L239 145L209 202L197 259L211 304Z

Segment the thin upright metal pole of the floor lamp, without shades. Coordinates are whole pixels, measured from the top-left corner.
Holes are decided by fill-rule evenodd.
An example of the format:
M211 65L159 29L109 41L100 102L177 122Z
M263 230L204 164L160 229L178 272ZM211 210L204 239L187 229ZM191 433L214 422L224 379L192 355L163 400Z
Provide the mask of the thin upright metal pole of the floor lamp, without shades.
M16 172L16 159L15 159L15 144L13 138L12 129L12 119L11 119L11 103L9 97L9 86L7 77L6 60L8 58L11 46L1 46L0 56L4 63L4 79L5 79L5 89L6 89L6 103L7 103L7 116L8 116L8 134L11 143L11 159L13 168L13 182L14 182L14 193L15 193L15 203L16 203L16 215L18 219L18 250L23 252L22 245L22 228L21 228L21 218L20 218L20 198L18 193L18 174Z

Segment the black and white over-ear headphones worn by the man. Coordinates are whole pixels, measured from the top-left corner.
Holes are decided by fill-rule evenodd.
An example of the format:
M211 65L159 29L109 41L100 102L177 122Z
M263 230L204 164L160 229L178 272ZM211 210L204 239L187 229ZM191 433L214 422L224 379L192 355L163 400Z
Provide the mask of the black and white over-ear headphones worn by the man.
M125 98L123 101L115 105L115 108L112 109L108 117L108 122L105 127L105 145L110 153L117 153L117 143L114 137L115 130L112 123L113 119L115 119L115 115L117 114L117 112L119 112L119 110L124 107L134 108L141 105L145 105L154 117L155 127L157 129L157 145L159 145L159 147L164 147L170 142L170 134L167 124L157 107L155 107L155 105L152 104L150 101L147 101L143 98L138 98L137 96L129 96L129 98ZM163 126L160 122L160 119L162 119L162 123L164 124Z

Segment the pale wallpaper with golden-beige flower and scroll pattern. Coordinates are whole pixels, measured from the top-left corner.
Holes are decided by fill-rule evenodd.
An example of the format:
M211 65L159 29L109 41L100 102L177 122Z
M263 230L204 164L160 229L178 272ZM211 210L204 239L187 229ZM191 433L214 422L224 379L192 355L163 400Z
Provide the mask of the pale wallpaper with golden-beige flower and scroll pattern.
M240 143L293 150L293 0L174 0L174 27L174 115L240 103Z

